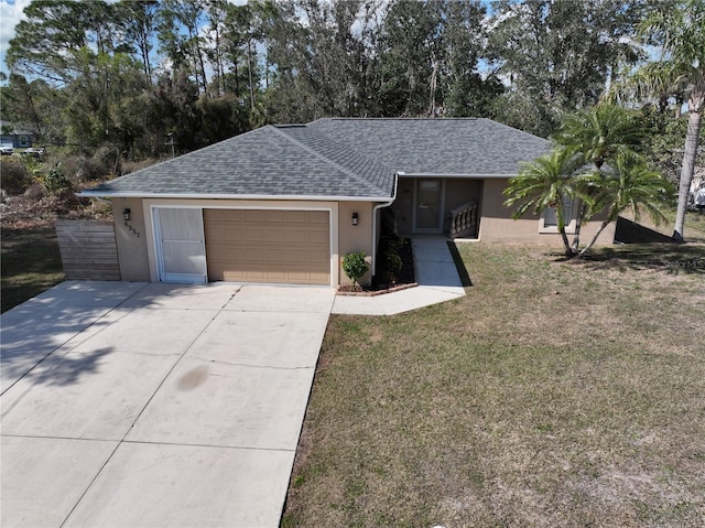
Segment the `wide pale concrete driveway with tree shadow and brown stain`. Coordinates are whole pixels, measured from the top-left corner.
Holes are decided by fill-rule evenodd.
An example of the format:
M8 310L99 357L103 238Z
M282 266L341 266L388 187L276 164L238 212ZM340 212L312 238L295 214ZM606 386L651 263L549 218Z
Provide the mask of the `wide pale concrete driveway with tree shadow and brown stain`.
M328 288L67 281L2 324L7 527L276 527Z

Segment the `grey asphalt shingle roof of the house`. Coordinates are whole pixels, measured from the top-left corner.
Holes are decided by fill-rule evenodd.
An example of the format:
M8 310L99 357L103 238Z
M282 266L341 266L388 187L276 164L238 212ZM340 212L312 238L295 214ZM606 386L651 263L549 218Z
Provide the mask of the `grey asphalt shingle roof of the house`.
M319 119L267 126L106 182L99 196L387 200L394 173L517 174L549 141L489 119Z

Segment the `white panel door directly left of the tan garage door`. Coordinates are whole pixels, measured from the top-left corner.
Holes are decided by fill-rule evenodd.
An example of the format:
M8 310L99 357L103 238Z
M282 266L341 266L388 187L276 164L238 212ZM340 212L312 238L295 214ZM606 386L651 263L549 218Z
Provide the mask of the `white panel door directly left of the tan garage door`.
M153 209L159 280L207 282L203 213L197 207Z

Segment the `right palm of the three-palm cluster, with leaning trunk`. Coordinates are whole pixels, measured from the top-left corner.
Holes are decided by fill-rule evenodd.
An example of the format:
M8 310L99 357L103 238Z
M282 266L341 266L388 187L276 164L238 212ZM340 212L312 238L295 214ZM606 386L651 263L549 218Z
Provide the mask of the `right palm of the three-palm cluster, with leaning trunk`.
M660 207L672 196L673 186L660 172L650 169L640 155L619 153L605 171L585 175L583 181L595 186L595 209L607 209L607 216L590 243L579 252L581 257L593 247L600 233L628 208L633 211L637 220L642 209L657 225L665 220Z

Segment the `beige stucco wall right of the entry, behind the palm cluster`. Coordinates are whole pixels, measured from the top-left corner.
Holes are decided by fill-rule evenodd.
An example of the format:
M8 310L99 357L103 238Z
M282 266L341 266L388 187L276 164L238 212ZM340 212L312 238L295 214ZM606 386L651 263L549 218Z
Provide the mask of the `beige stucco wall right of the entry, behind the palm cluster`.
M485 180L482 200L480 202L479 239L484 241L528 243L541 245L561 245L561 235L541 233L540 218L528 214L523 218L511 218L512 208L506 207L506 196L502 191L507 187L508 179ZM585 243L593 238L599 228L601 218L584 224L581 239ZM572 234L568 230L568 238ZM615 239L615 224L610 224L599 236L597 244L612 244Z

